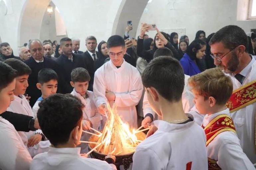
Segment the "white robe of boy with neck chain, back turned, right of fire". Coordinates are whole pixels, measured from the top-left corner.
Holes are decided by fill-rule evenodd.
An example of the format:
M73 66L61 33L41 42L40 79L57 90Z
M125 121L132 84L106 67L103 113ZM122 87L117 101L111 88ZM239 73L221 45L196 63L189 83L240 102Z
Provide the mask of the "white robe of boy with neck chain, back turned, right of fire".
M189 115L193 119L192 115ZM207 170L206 138L194 121L171 124L154 121L158 130L141 142L133 155L133 170Z

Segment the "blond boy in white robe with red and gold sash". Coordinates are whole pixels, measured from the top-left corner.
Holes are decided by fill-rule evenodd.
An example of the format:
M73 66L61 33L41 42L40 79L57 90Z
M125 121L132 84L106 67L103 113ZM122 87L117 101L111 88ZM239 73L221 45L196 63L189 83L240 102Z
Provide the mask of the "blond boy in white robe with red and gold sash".
M229 77L220 68L212 68L192 76L189 85L198 112L206 114L202 128L206 135L208 168L255 169L241 148L229 109L225 108L233 90Z

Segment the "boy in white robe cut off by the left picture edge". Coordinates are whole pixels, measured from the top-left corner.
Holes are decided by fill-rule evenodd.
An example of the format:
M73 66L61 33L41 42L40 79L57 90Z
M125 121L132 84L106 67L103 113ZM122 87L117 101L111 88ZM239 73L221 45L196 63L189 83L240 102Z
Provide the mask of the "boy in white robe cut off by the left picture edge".
M17 71L0 62L0 169L29 170L32 160L14 126L1 117L14 100Z

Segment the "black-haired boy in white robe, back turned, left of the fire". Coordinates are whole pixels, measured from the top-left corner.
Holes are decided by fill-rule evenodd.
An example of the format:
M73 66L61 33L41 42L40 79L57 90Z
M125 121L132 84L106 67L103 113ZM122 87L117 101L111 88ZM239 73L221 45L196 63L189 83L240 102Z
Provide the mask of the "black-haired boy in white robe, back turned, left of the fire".
M39 125L52 146L48 152L33 158L30 170L116 169L106 161L80 156L80 148L76 147L82 135L83 104L80 99L57 93L42 100L39 106Z

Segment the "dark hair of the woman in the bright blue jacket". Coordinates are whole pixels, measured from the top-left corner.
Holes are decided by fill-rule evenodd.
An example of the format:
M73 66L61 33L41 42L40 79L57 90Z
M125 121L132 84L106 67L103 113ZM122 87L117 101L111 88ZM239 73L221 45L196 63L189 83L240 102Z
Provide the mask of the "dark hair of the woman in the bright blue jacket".
M206 43L201 39L195 39L190 43L186 53L190 56L191 60L196 59L196 52L204 45L206 45Z

